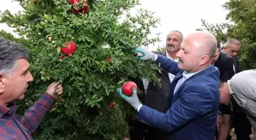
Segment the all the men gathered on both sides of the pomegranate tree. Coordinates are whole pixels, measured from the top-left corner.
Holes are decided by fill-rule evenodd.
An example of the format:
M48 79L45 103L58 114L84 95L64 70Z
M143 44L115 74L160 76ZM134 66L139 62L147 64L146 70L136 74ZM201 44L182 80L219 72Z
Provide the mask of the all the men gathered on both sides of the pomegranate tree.
M129 120L130 140L226 140L235 128L237 140L248 140L256 128L256 70L239 71L242 44L228 39L221 46L213 34L195 32L184 36L178 30L166 37L165 51L137 47L133 52L142 61L155 61L158 82L137 80L144 91L139 98L118 94L138 112ZM29 54L23 45L0 39L0 139L33 139L44 114L62 84L53 82L42 97L20 118L15 101L24 98L33 76ZM140 83L138 83L140 82ZM256 132L256 131L254 131ZM256 139L256 138L254 138Z

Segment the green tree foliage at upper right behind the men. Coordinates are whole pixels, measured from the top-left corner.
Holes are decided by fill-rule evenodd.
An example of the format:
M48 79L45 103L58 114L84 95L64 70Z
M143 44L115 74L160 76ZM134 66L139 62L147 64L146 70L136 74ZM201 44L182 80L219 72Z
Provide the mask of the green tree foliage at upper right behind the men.
M229 38L241 40L240 70L256 68L256 2L230 0L223 8L229 11L226 16L229 23L213 24L202 20L203 29L200 30L209 30L222 43Z

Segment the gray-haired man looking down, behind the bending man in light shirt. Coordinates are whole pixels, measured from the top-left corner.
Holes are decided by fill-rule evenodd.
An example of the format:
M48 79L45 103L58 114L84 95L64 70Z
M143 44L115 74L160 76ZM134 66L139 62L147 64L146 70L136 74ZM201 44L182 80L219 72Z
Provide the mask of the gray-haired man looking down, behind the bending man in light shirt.
M238 54L241 50L241 42L238 39L228 39L222 51L229 54L234 59L234 70L235 73L239 73L239 62ZM233 100L232 109L234 115L234 127L235 135L237 140L250 140L249 135L251 135L251 123L246 117L246 114L242 111L242 108Z

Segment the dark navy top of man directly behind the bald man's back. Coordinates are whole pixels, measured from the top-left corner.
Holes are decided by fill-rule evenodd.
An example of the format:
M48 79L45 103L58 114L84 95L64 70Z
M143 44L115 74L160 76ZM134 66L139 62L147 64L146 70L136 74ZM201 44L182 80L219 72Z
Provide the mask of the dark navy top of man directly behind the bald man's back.
M232 76L235 75L234 69L234 60L226 54L225 52L220 52L218 60L215 62L214 66L219 69L219 79L222 82L227 82Z

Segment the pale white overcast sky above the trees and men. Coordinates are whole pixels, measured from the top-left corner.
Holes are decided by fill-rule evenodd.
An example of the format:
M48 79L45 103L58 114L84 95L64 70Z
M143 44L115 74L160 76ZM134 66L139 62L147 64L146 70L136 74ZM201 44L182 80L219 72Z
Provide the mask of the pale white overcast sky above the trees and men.
M132 12L139 8L145 8L154 11L155 16L160 18L158 27L152 29L152 36L161 33L159 37L162 42L150 45L149 49L151 50L155 50L157 45L165 45L166 35L171 30L179 30L184 36L187 36L202 27L201 19L208 23L222 23L226 22L226 14L228 14L228 11L222 8L222 5L228 0L140 0L139 2L142 5L137 6ZM6 9L11 13L22 11L18 2L2 0L0 11ZM4 23L0 23L0 30L12 33L12 29Z

